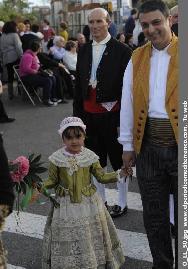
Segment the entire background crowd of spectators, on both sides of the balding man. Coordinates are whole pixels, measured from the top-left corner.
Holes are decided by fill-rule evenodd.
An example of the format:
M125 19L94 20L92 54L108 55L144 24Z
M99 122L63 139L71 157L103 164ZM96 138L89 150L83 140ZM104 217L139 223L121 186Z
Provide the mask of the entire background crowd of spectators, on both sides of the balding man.
M176 23L177 7L171 13ZM148 42L141 30L136 9L131 10L130 17L119 32L113 13L109 15L111 25L108 30L111 36L127 44L132 50ZM77 53L92 36L88 25L84 27L83 34L77 33L76 36L69 36L67 29L68 24L64 21L59 23L58 33L46 19L42 20L41 26L32 25L28 19L18 24L14 21L0 21L0 59L3 70L1 80L8 85L10 100L14 98L13 66L17 64L20 64L19 76L25 85L43 88L44 106L68 103L66 94L67 99L73 98ZM54 75L44 76L40 72L42 69L50 69Z

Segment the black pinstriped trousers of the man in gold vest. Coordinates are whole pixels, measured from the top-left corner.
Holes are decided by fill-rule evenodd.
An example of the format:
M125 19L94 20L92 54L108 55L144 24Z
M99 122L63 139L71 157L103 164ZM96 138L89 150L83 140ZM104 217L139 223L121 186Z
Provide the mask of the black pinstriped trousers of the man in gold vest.
M175 268L178 269L178 147L142 143L136 158L144 226L153 257L153 269L172 269L169 195L172 184L175 219Z

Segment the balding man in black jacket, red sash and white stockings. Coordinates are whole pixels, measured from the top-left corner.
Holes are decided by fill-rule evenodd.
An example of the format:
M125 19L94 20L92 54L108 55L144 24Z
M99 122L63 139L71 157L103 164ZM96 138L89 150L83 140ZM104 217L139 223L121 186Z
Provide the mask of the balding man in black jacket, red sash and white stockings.
M118 133L123 75L132 50L108 33L110 18L105 9L93 9L88 20L93 40L78 52L73 116L86 124L85 146L100 157L104 171L107 156L116 171L122 166L123 147L118 143ZM95 178L94 183L106 204L105 185ZM112 217L127 211L128 180L118 184L118 189Z

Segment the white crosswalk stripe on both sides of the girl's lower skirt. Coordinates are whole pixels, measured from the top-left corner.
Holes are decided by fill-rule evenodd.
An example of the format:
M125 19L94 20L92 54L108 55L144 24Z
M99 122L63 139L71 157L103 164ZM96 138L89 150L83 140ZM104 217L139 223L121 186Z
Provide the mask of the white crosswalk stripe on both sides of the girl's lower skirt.
M16 216L16 211L13 211L13 213L7 217L4 231L10 233L16 232ZM37 239L43 239L43 232L47 219L46 216L20 212L19 218L20 222L18 223L17 229L18 234L34 237ZM152 262L146 234L119 229L118 234L122 242L123 252L125 256Z

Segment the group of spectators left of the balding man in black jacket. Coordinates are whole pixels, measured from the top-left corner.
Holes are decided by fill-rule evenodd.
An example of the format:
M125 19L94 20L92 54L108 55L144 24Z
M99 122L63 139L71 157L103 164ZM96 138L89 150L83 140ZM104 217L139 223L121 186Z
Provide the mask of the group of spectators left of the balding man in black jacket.
M19 77L31 94L32 87L43 88L44 106L68 103L65 94L67 98L74 96L77 42L68 41L66 22L60 22L59 36L47 20L44 19L41 26L32 25L29 20L18 24L0 22L1 72L7 73L7 80L3 82L8 85L8 97L14 99L13 66L19 65ZM52 71L51 75L45 72L46 69Z

